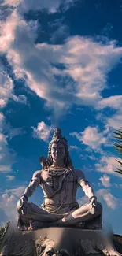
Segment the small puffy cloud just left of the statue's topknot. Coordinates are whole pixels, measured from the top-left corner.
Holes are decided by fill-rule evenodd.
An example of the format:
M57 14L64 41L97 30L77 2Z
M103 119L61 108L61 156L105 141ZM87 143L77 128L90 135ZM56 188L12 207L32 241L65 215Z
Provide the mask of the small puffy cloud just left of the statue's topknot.
M43 139L43 141L47 142L50 138L50 133L53 131L51 126L48 126L43 121L38 123L37 128L32 127L33 136L38 139Z

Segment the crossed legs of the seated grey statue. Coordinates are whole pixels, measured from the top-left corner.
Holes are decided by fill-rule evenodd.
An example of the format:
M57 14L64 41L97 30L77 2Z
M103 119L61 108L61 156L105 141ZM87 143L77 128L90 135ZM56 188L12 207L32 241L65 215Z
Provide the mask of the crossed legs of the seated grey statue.
M39 208L31 202L26 200L17 203L17 210L20 215L18 221L18 228L24 224L24 228L31 224L31 229L44 228L44 227L71 227L77 226L79 223L89 223L100 217L99 226L102 225L102 205L98 202L94 214L91 214L91 204L87 203L79 209L72 209L68 213L50 213L44 208ZM23 224L22 224L23 223Z

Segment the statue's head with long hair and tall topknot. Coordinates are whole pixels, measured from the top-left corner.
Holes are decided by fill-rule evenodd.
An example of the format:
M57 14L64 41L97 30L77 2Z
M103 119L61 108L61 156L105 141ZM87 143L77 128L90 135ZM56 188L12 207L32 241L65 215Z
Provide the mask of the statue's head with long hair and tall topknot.
M68 143L65 137L61 135L61 129L54 129L54 136L50 141L47 162L52 165L53 162L63 161L65 166L71 166L72 160L69 156Z

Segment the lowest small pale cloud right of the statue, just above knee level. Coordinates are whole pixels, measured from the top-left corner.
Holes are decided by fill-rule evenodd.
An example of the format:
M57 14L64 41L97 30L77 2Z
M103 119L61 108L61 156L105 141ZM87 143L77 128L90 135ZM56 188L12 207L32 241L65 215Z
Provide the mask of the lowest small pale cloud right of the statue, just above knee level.
M102 197L107 206L112 209L116 209L118 206L118 199L115 198L107 189L99 189L96 193L98 197Z

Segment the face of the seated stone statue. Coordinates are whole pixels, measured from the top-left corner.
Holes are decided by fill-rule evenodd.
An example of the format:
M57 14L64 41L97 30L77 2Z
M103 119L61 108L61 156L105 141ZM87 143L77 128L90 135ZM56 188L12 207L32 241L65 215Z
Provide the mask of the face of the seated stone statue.
M63 143L53 143L51 147L53 161L61 161L65 157L65 147Z

